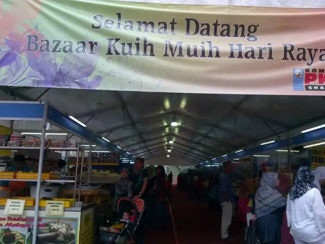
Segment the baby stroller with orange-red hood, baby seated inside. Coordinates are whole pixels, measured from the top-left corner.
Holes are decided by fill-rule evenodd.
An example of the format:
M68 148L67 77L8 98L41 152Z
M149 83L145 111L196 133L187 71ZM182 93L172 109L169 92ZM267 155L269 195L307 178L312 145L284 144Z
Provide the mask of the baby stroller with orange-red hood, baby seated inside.
M120 198L117 201L118 219L110 223L109 227L102 228L101 243L124 244L131 242L136 244L134 234L139 226L144 209L144 201L139 197L134 197L133 199ZM124 218L125 213L127 213L128 219Z

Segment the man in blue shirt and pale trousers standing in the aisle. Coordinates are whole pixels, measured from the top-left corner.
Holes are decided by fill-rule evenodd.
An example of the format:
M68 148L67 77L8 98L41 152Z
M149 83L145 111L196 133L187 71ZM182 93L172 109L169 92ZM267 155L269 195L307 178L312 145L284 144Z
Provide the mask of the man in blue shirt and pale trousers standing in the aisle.
M219 178L219 202L222 207L221 237L226 241L233 241L234 239L230 237L228 232L229 226L232 223L233 203L235 201L233 182L230 177L233 172L232 162L223 163L223 168Z

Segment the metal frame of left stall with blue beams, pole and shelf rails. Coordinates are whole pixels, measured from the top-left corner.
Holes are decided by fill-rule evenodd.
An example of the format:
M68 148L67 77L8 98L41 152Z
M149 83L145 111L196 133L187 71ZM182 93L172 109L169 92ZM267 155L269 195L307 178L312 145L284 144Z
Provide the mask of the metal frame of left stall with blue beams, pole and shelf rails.
M82 152L81 157L81 170L83 166L83 156L84 156L84 148L80 145L77 145L75 148L69 147L49 147L46 148L45 144L45 134L46 134L46 123L50 123L64 131L67 131L71 134L74 134L92 144L98 145L101 148L108 149L110 151L115 151L116 153L120 153L124 155L125 158L133 158L131 155L126 154L125 151L117 148L114 144L108 142L107 140L102 139L101 136L96 135L95 133L87 130L83 126L76 123L74 120L70 119L67 115L59 112L52 106L50 106L47 102L13 102L13 101L0 101L0 120L34 120L34 121L42 121L42 134L41 134L41 145L40 147L18 147L18 146L0 146L0 149L11 149L11 150L40 150L39 157L39 165L38 165L38 176L37 179L2 179L0 180L16 180L16 181L31 181L37 182L36 189L36 199L35 199L35 211L34 211L34 226L38 226L38 217L39 217L39 200L40 200L40 188L41 182L69 182L75 183L75 191L74 191L74 199L76 195L77 188L77 172L78 172L78 159L79 153ZM76 164L76 173L74 180L43 180L42 179L42 169L43 169L43 157L44 150L67 150L67 151L77 151L77 164ZM91 153L91 148L90 152ZM89 157L91 158L91 157ZM90 161L89 163L90 164ZM80 172L80 180L79 180L79 191L81 190L81 177L82 172ZM89 176L88 176L89 177ZM80 194L79 194L80 197ZM37 240L37 229L33 228L32 233L32 244L36 244Z

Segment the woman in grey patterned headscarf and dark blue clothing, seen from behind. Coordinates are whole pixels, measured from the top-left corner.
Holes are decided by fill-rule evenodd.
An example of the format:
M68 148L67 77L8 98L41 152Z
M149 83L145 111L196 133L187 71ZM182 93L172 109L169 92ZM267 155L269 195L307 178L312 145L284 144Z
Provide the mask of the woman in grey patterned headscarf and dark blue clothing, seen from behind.
M255 194L253 221L261 243L281 242L281 228L286 199L277 190L280 180L274 172L265 173Z

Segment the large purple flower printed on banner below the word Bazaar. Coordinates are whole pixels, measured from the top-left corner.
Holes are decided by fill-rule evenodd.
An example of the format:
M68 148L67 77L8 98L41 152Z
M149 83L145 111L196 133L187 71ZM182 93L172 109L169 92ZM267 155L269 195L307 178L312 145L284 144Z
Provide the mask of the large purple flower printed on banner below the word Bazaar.
M98 55L67 54L63 62L57 64L53 53L28 53L27 60L34 70L28 75L39 77L32 80L33 86L94 89L102 83L99 75L88 79L96 67Z

